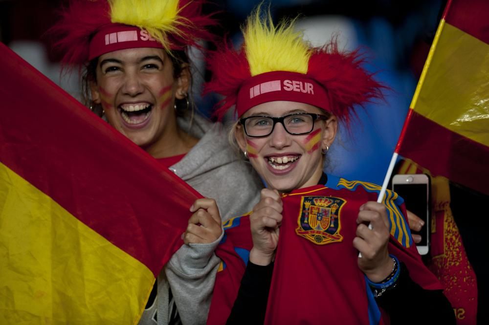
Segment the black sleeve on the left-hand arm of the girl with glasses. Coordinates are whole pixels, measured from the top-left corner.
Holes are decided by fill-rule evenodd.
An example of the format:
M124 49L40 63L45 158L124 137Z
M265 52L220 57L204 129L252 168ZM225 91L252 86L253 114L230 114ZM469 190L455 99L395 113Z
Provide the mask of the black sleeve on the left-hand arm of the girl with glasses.
M248 261L226 325L264 323L272 273L273 263L260 266Z

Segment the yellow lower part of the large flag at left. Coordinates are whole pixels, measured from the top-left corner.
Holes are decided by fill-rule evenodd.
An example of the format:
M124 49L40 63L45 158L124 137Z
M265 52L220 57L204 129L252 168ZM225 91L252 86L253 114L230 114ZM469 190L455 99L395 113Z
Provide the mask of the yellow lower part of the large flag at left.
M135 324L154 282L0 163L0 324Z

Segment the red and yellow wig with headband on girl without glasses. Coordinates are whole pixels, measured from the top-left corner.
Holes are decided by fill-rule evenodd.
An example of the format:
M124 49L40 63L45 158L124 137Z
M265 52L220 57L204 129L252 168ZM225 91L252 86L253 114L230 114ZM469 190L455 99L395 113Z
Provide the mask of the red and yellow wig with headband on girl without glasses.
M72 0L51 29L63 62L83 65L102 54L135 47L184 50L211 40L202 0Z

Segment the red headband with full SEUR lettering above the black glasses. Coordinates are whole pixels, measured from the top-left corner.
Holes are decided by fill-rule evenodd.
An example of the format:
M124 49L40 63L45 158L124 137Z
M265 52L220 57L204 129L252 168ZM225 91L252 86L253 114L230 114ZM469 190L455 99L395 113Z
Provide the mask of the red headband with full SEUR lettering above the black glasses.
M236 110L242 116L248 109L273 101L306 103L330 111L328 92L305 74L271 71L246 80L238 92Z

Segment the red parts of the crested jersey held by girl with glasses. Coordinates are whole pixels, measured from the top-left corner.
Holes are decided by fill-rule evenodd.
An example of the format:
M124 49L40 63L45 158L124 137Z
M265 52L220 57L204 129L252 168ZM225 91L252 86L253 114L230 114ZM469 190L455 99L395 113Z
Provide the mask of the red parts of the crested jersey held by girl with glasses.
M283 197L283 221L266 324L319 324L325 320L331 324L369 324L366 283L358 268L358 252L352 242L356 236L360 205L376 199L377 192L367 192L360 186L351 191L323 185L295 190ZM315 209L319 209L316 211L320 211L321 205L329 208L332 204L337 205L336 212L324 212L322 219L324 224L334 224L337 231L334 227L328 228L328 235L316 231L321 235L314 237L315 234L302 225L308 211L306 202L321 200L323 203L313 203ZM337 217L332 223L334 215ZM310 219L311 225L313 219ZM234 249L250 250L252 247L249 219L242 217L239 221L239 226L226 230L224 242L216 250L225 266L217 274L208 324L224 324L236 299L245 265ZM311 234L311 238L301 236L305 233ZM406 264L411 278L422 287L442 288L422 264L414 245L405 248L391 237L389 252Z

